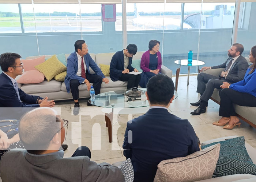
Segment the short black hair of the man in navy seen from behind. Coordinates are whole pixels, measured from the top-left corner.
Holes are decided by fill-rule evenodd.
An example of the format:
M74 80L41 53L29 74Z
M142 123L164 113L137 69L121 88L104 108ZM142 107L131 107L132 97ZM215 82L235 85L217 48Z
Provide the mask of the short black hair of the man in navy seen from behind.
M163 74L151 77L147 83L147 94L150 104L167 106L174 95L173 80Z

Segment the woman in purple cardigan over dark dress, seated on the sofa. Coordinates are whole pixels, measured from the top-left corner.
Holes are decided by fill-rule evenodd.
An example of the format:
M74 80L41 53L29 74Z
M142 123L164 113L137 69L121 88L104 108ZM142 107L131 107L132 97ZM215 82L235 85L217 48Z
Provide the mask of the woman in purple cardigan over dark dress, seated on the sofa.
M159 52L160 42L150 40L148 43L149 50L144 52L140 60L140 68L143 70L140 79L140 86L146 88L148 80L157 74L161 74L162 58Z

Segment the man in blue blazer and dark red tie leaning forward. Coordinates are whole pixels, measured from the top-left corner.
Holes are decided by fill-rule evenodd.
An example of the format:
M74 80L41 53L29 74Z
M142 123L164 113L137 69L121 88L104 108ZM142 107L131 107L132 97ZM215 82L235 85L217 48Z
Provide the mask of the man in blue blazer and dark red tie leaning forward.
M109 83L109 80L105 78L101 69L97 66L94 60L88 53L88 46L84 40L77 40L75 42L75 52L68 56L67 60L67 75L65 77L65 85L67 92L71 90L75 105L73 114L78 115L79 113L79 90L78 86L85 83L87 90L90 91L91 84L95 90L95 95L101 91L101 83ZM96 74L90 74L89 67L93 69ZM87 104L89 104L87 102Z

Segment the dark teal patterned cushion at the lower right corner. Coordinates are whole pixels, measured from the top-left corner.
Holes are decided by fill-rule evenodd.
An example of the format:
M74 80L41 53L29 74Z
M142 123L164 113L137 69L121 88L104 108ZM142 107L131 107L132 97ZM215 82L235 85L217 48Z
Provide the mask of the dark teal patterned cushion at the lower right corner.
M219 151L219 159L212 178L232 174L256 175L256 165L253 164L252 159L246 151L244 137L210 143L202 146L202 149L206 149L216 143L221 144L221 149Z

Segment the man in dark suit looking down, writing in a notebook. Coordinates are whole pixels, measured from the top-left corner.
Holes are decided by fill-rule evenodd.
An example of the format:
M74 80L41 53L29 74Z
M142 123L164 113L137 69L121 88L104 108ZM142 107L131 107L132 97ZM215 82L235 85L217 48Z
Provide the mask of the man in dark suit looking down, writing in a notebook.
M131 71L138 72L136 68L131 66L132 56L137 53L137 46L129 44L126 49L116 52L110 62L110 78L113 82L121 80L127 83L127 89L138 87L140 82L140 74L128 74Z

